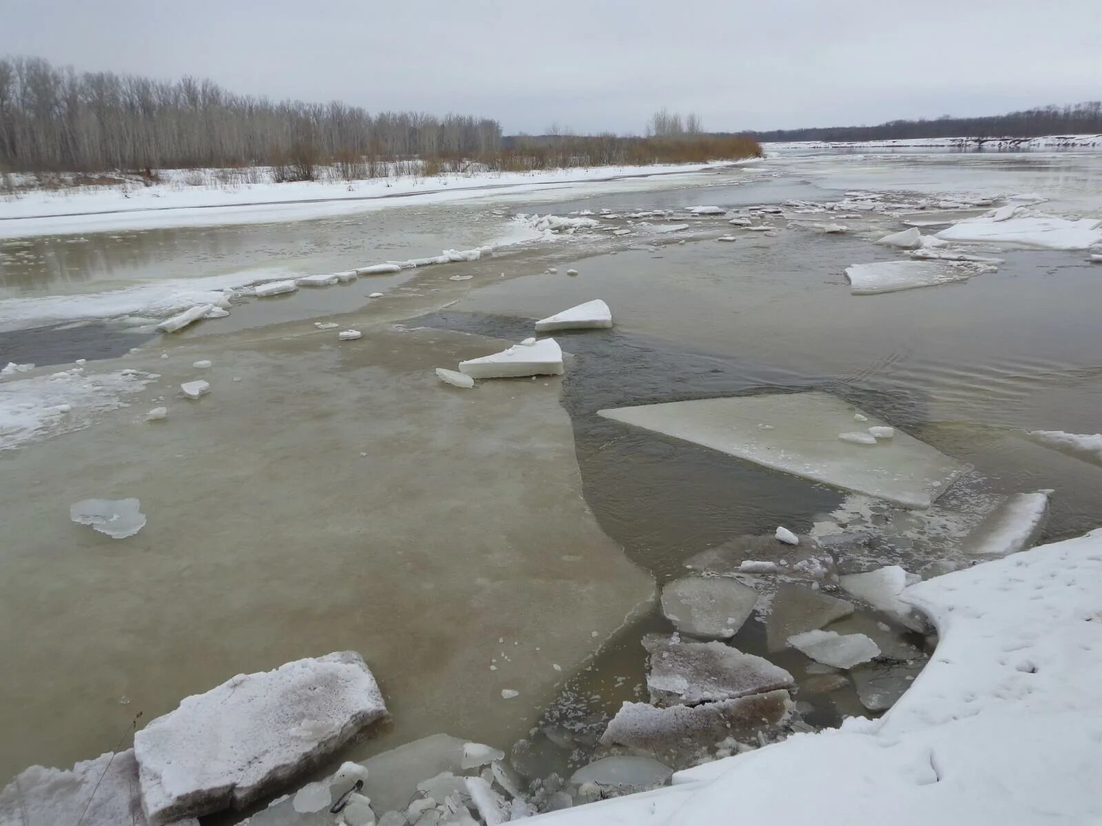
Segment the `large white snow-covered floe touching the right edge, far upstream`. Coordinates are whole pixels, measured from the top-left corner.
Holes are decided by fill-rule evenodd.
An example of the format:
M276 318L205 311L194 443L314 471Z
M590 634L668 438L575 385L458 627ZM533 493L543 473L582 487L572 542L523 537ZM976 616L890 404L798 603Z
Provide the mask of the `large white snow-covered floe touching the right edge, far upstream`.
M1002 207L1006 210L1007 207ZM1014 207L1007 214L991 210L965 218L937 235L944 241L976 241L1047 250L1085 250L1102 243L1102 221L1096 218L1071 220Z

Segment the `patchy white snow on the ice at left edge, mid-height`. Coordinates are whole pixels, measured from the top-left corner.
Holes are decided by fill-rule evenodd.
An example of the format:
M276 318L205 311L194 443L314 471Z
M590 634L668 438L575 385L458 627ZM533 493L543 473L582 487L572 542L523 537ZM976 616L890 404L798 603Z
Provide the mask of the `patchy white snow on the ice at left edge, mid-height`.
M0 381L0 450L88 427L96 414L126 407L123 396L142 390L155 378L129 369L88 376L85 368L75 367Z

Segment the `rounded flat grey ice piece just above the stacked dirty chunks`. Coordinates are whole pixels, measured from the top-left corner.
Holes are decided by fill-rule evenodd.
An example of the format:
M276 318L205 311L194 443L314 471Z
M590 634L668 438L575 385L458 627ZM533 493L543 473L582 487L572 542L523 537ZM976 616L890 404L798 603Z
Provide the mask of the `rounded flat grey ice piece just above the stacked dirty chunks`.
M661 601L662 613L682 633L727 639L753 613L757 593L737 579L690 576L668 583Z

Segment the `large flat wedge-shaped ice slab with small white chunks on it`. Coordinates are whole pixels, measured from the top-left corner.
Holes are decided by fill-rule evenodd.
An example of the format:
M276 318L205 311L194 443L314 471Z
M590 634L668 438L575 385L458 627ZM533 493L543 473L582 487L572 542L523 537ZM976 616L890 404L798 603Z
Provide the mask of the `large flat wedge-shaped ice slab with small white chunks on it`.
M854 409L829 393L770 393L598 411L667 436L765 467L908 508L928 508L963 466L903 431L875 445L851 445ZM868 423L879 425L875 416ZM771 430L763 430L759 424Z

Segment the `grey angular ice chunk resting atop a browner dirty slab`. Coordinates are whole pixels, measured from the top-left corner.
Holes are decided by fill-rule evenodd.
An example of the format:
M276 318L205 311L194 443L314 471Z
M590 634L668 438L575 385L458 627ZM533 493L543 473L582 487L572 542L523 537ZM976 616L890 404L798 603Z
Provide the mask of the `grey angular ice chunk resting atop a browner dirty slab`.
M682 642L648 635L647 689L658 706L696 705L788 688L792 675L768 660L722 642Z

